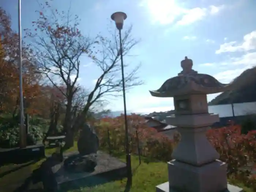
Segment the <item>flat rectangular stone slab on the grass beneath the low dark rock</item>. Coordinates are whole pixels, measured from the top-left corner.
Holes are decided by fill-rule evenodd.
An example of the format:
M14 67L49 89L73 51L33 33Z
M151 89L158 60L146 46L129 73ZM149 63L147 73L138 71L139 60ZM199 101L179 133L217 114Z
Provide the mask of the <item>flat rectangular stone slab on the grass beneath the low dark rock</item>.
M78 152L64 154L64 159L78 155ZM102 151L97 152L97 166L93 172L70 172L64 163L48 158L39 168L38 175L48 192L75 190L92 187L127 176L126 164ZM0 190L1 191L1 190Z

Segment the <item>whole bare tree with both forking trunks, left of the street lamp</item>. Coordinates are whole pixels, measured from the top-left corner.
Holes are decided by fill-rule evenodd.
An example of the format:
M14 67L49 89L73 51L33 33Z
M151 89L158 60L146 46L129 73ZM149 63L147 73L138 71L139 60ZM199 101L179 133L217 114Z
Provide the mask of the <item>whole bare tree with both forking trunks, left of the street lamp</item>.
M63 84L65 90L61 93L67 99L63 128L66 133L66 146L74 143L74 132L86 121L86 114L94 103L103 102L109 96L119 96L122 91L120 50L117 34L111 38L100 35L94 39L85 37L78 29L78 16L72 17L67 13L52 10L46 3L42 5L39 18L33 22L35 29L27 31L28 37L33 38L35 59L43 73L55 87ZM46 14L49 12L51 14ZM74 19L72 19L74 18ZM130 27L123 35L123 55L135 46L138 41L131 37ZM83 109L74 116L77 110L76 93L79 91L77 81L80 72L80 58L86 54L102 74L97 79L95 87L83 97ZM142 84L136 77L139 65L125 76L127 89ZM81 99L81 98L80 98Z

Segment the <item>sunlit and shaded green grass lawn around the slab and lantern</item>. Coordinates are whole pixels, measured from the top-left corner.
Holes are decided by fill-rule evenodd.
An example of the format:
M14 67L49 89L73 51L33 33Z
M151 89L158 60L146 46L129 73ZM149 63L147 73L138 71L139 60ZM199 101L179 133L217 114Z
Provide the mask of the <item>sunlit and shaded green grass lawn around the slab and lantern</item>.
M65 152L77 150L75 143L74 147ZM45 154L50 155L55 149L46 149ZM125 162L124 155L114 155ZM0 192L14 192L19 188L27 178L30 177L33 170L37 169L45 159L38 162L28 162L21 165L6 165L0 167ZM133 184L130 192L155 192L155 186L168 180L167 163L166 162L148 162L147 159L142 159L139 165L139 158L132 155L133 169ZM181 178L182 179L182 178ZM106 184L95 187L84 187L68 192L128 192L125 190L127 179L108 182ZM253 190L244 187L241 184L233 181L232 184L244 188L245 192L253 192ZM29 185L30 189L42 188L42 183Z

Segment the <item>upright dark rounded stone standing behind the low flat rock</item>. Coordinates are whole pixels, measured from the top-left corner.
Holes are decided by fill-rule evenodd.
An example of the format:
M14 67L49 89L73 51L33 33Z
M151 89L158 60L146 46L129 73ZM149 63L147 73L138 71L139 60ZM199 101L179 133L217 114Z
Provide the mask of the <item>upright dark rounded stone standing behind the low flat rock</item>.
M99 149L99 139L93 127L85 124L78 139L78 151L80 155L89 155L97 153Z

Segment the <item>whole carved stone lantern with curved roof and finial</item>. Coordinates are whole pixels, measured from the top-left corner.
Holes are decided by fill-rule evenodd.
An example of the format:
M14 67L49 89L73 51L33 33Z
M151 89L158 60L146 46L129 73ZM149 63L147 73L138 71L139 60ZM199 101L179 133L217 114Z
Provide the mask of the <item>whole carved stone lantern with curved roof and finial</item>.
M177 126L180 143L168 162L169 181L156 187L157 192L240 192L227 184L226 163L206 138L210 125L219 121L218 114L208 113L207 94L233 89L210 75L198 74L193 61L185 57L182 71L156 91L153 97L173 97L175 114L166 123Z

